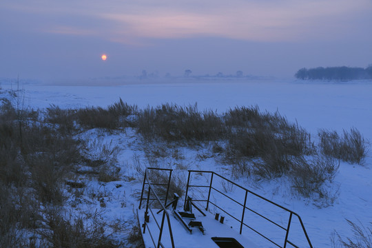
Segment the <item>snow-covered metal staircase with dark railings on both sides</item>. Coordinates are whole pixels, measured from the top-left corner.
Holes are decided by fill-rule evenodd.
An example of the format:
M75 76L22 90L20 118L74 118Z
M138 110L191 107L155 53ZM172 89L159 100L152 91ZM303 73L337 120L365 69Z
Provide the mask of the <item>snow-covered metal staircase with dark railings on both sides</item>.
M163 173L163 178L167 178L167 180L165 182L158 182L156 178L152 178L152 180L156 180L156 183L152 183L152 181L150 180L151 176L149 176L151 172ZM177 194L174 194L173 200L168 203L172 169L149 167L145 170L140 204L137 209L137 214L138 221L142 228L142 234L146 248L150 246L156 248L196 247L195 245L203 243L201 242L203 238L204 240L209 240L205 242L211 242L211 245L208 245L208 247L213 246L229 248L256 247L254 245L250 245L251 242L245 242L243 240L243 236L241 235L243 230L245 231L245 233L247 231L253 231L254 234L258 234L258 236L267 240L269 244L275 245L275 247L298 248L299 246L296 245L295 242L289 240L290 227L293 223L293 218L296 218L298 220L298 222L300 223L300 227L302 229L302 234L304 235L304 238L306 238L307 240L307 244L309 245L310 248L313 248L307 231L304 228L304 224L302 223L302 219L295 212L285 207L282 207L277 203L273 203L271 200L268 200L267 198L264 198L254 192L251 192L249 189L245 189L245 187L241 187L240 185L232 182L231 180L225 178L224 176L216 174L215 172L198 170L189 170L188 172L189 174L187 178L187 187L185 191L185 203L183 209L178 209L177 203L179 197ZM167 176L164 176L164 174L167 174ZM193 175L196 174L208 175L209 184L208 185L191 184L192 182L191 178ZM242 195L245 197L239 200L225 194L220 189L218 189L218 187L216 187L217 181L218 182L224 181L230 183L231 185L234 185L234 187L238 187L240 190L242 190L242 192L244 192L244 194ZM159 197L159 192L161 191L161 189L163 189L162 196L163 198ZM194 198L193 191L195 191L195 189L204 189L207 196L205 198L203 197ZM221 203L218 204L216 200L212 200L211 198L212 194L218 194L218 196L222 197L223 200L221 201ZM269 204L274 208L280 209L280 211L285 213L285 215L288 215L287 225L283 226L281 223L278 223L277 221L272 220L271 218L265 216L264 214L259 213L257 210L252 209L252 207L249 207L249 201L247 200L248 197L258 198L258 200L262 200L266 204ZM226 203L227 201L231 201L232 203L241 207L242 210L239 216L231 214L229 211L227 211L227 209L223 207L222 203ZM145 203L144 209L142 209L144 205L143 203ZM213 206L214 209L217 209L220 213L229 216L230 222L236 221L238 223L239 231L236 232L236 235L235 234L233 235L229 228L227 228L226 231L220 231L218 234L218 232L216 231L217 229L214 228L214 226L216 227L218 226L218 228L223 227L226 228L228 226L223 225L225 216L220 215L220 213L216 213L213 216L209 213L209 211L211 210L210 206ZM193 208L197 210L196 213L193 213L192 210ZM202 210L202 208L205 210ZM141 214L143 214L142 217L139 216L140 212ZM160 216L159 214L161 213L162 215ZM273 225L274 227L281 229L283 232L282 244L278 242L278 238L274 239L266 234L262 234L262 231L255 229L254 227L252 227L252 225L249 225L249 223L247 223L248 214L256 216L254 217L255 221L261 221L260 219L265 220L265 223L267 223L265 225L267 225L268 227L269 225ZM174 216L174 218L172 218L172 216ZM179 230L180 228L183 229L183 231L182 230L180 231ZM198 231L193 232L195 229ZM216 234L213 234L214 231L216 231ZM231 237L228 235L231 235ZM145 236L147 236L147 238L145 238ZM200 242L196 239L199 239ZM149 245L148 240L151 240L152 245ZM191 243L193 240L194 245L192 245ZM185 242L189 242L189 245L185 244ZM200 247L203 247L203 245L200 245Z

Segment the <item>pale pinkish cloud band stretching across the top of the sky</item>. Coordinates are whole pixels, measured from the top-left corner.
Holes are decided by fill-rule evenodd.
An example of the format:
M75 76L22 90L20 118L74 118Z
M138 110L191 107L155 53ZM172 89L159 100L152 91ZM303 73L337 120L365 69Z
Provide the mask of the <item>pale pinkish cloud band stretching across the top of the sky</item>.
M329 40L344 37L353 19L372 13L368 0L285 1L24 1L5 7L39 17L39 31L141 39L222 37L247 41ZM39 3L39 4L38 4ZM54 18L51 18L53 16ZM46 18L45 17L45 18ZM76 20L69 25L65 19ZM96 20L94 25L84 19ZM80 25L80 26L79 26ZM366 25L366 23L360 23Z

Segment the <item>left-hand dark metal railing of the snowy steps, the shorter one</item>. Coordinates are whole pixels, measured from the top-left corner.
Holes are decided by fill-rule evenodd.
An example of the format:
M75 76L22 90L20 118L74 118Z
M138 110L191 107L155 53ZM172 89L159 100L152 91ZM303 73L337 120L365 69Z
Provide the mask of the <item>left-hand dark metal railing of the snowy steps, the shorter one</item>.
M149 176L148 176L149 170L160 170L160 171L169 172L168 183L156 183L156 184L155 183L154 184L151 183L150 180L149 180ZM149 167L149 168L146 168L146 170L145 170L145 178L143 180L143 186L142 186L142 192L141 192L141 200L140 200L140 204L139 204L138 209L141 209L142 200L146 200L146 211L145 211L145 218L144 218L145 221L143 223L143 234L145 234L146 227L147 227L147 231L149 232L149 236L152 239L152 242L154 244L154 247L156 247L156 248L159 248L159 247L163 247L164 248L164 245L161 242L161 238L163 236L163 229L164 229L165 218L167 218L169 236L170 236L172 248L174 248L174 239L173 239L172 227L171 227L171 223L170 223L170 219L169 219L169 214L167 212L167 209L165 208L165 205L167 205L167 198L168 198L168 192L169 192L169 185L170 185L171 176L172 176L172 169L160 169L160 168L150 168ZM147 197L146 198L143 197L143 193L145 192L145 185L148 185ZM162 203L162 200L158 197L158 194L156 194L156 189L155 189L154 185L167 186L167 192L165 194L165 199L164 199L165 203L164 204ZM150 195L151 194L154 196L154 198L150 198ZM150 200L152 200L152 201L155 200L155 202L158 203L158 205L160 205L161 210L163 210L163 216L161 218L161 225L159 225L158 221L156 220L156 216L155 216L154 212L152 211L152 209L150 207L150 205L151 205L151 203L149 202ZM149 229L149 225L147 224L149 222L149 212L152 214L152 218L155 220L156 226L159 229L159 235L158 235L158 242L157 243L154 240L154 237L152 235L152 232Z

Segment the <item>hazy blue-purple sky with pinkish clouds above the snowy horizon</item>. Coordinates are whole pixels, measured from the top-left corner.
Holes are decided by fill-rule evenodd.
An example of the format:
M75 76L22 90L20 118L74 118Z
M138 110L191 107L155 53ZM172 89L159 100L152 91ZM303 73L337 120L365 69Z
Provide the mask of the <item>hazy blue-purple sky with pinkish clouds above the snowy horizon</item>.
M0 77L366 67L371 27L371 0L1 0Z

